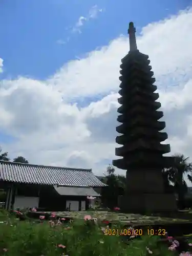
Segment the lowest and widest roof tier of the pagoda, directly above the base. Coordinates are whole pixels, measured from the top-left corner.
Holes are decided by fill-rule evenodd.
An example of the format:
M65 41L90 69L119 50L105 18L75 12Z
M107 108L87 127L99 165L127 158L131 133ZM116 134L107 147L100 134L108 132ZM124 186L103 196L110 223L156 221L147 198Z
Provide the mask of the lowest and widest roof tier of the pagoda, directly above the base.
M127 170L129 168L168 168L172 165L174 162L173 157L163 157L163 156L157 156L155 154L150 153L141 153L134 155L130 157L129 159L116 159L113 160L113 165L117 168Z

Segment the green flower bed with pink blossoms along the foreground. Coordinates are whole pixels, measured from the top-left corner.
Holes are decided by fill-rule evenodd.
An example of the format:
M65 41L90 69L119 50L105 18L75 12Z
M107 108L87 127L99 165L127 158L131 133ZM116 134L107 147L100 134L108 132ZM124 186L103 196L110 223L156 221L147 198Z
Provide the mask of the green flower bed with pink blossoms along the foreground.
M120 223L113 225L109 220L90 215L70 222L65 218L57 219L54 212L49 220L41 215L39 220L20 221L17 217L21 216L20 220L24 220L24 212L16 211L12 216L0 212L0 255L190 255L190 239L178 241L167 234L163 237L137 236L132 227L126 229L126 236L121 236Z

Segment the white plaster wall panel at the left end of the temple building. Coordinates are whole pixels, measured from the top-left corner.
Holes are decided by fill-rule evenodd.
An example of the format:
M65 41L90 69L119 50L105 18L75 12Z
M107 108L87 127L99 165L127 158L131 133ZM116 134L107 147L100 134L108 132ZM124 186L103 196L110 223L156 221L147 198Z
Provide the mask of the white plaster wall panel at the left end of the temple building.
M15 196L14 209L16 208L30 208L37 207L39 205L38 197L23 197L23 196Z

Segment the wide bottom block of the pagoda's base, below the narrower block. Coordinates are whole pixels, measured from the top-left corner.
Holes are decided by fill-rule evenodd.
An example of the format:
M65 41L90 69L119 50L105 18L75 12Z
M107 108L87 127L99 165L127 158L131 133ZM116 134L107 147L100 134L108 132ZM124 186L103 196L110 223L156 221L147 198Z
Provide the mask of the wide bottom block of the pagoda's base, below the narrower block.
M134 214L177 210L173 194L130 194L119 198L119 207L124 212L132 212Z

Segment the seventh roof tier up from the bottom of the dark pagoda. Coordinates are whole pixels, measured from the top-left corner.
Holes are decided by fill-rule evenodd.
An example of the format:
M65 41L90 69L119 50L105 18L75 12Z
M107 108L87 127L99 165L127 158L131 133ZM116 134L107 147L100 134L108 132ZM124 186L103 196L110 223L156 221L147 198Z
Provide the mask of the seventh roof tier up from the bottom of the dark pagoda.
M123 95L120 98L118 98L118 102L119 104L126 104L127 101L129 101L130 99L133 99L136 96L141 96L142 98L145 98L146 100L151 100L151 101L155 101L159 98L159 94L158 93L147 93L144 91L134 91L132 93L130 93L130 95Z

